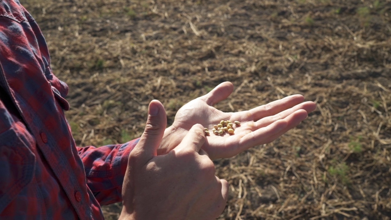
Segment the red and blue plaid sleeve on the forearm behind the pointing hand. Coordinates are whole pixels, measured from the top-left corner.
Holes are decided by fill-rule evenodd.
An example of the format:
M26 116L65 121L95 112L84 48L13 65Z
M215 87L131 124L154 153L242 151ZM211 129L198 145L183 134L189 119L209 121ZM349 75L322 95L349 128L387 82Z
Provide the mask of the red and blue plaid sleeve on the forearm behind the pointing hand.
M128 157L138 140L99 148L77 147L86 172L87 185L101 206L122 202L122 183Z

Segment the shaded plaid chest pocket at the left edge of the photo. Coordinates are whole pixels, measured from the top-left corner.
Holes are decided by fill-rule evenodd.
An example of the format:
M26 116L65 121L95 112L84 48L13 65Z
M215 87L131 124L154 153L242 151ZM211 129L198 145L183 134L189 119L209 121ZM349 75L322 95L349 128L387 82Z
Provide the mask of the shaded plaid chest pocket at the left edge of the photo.
M0 213L31 182L35 161L14 128L0 133Z

